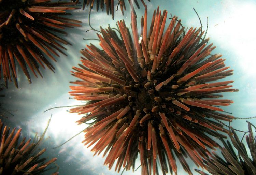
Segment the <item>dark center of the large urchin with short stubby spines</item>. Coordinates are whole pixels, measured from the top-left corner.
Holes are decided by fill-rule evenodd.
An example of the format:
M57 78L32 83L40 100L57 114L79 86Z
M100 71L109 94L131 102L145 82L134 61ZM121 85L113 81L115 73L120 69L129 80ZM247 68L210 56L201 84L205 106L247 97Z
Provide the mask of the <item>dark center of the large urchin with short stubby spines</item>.
M143 70L141 70L143 72ZM141 73L143 74L143 73ZM140 76L140 82L129 81L129 85L123 87L122 94L127 94L128 100L140 110L146 108L151 111L153 107L166 108L167 103L172 103L171 100L179 99L181 96L177 94L179 85L175 81L169 81L168 85L162 86L158 89L158 84L162 79L166 79L166 75L152 74L151 78L148 76ZM171 79L173 80L174 76ZM175 80L175 79L174 79ZM128 84L128 83L127 83ZM161 83L160 83L161 84ZM157 110L158 111L158 110Z

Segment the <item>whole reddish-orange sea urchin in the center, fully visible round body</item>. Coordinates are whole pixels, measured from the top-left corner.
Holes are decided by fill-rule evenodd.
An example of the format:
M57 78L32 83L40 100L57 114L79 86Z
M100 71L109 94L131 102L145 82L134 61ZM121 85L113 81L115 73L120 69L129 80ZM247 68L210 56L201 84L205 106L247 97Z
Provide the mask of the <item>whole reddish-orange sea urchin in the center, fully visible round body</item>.
M215 48L207 45L201 29L186 33L181 21L173 17L165 29L167 11L157 9L147 34L147 10L138 37L136 17L132 13L130 34L124 20L114 29L101 28L100 46L87 45L81 53L83 65L73 67L69 93L77 100L88 100L85 106L71 112L86 114L79 123L92 120L85 130L85 145L95 144L91 151L107 155L105 164L115 170L131 167L140 154L142 174L158 172L177 174L175 157L188 174L185 158L197 166L218 147L209 135L226 138L217 130L229 133L216 120L232 121L217 106L228 106L231 100L218 99L219 92L234 92L233 81L214 82L232 74L221 55L210 55ZM118 34L120 33L120 37ZM133 39L133 40L132 40ZM133 41L135 41L133 43ZM202 158L201 158L202 157ZM157 161L157 159L159 161Z

